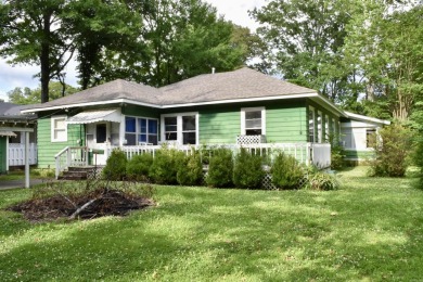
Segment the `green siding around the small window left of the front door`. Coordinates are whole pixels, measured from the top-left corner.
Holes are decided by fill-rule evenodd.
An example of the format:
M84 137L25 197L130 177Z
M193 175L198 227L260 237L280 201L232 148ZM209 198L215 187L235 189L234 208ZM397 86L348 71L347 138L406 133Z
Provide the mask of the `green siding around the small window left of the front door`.
M67 141L51 142L51 119L50 117L39 118L37 127L38 167L47 168L50 166L50 168L54 168L54 155L66 146L78 146L78 139L85 143L84 125L68 125Z

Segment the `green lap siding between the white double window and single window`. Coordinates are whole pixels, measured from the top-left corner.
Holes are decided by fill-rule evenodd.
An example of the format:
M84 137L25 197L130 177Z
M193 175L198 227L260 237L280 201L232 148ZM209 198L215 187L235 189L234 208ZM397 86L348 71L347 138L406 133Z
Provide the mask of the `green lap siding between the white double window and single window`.
M240 132L241 107L200 112L200 144L233 144Z

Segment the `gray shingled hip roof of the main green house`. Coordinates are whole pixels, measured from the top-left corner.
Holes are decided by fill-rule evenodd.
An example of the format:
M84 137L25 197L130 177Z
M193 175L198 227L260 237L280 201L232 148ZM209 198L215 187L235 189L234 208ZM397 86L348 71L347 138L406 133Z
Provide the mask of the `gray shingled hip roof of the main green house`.
M243 67L228 73L200 75L158 89L117 79L29 108L72 106L117 99L166 106L305 93L316 93L316 91Z

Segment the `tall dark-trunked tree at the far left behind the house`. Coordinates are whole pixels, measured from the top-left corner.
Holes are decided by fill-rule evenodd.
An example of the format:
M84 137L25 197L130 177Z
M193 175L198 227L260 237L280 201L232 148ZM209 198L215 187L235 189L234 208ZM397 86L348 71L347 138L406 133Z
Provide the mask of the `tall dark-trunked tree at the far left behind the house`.
M0 55L12 64L39 65L41 102L49 101L49 82L63 79L70 46L60 25L64 0L2 1Z

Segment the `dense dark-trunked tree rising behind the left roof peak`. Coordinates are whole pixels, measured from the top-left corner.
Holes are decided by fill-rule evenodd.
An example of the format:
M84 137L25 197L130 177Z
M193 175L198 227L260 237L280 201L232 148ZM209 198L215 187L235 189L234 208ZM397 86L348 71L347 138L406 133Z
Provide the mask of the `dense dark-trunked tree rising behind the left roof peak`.
M125 61L130 57L143 60L140 55L144 54L144 44L139 40L142 17L124 1L70 1L62 17L77 50L82 89L93 87L100 80L124 78L116 69L115 75L104 75L104 62L113 62L115 66L123 57ZM132 59L127 63L136 62Z

